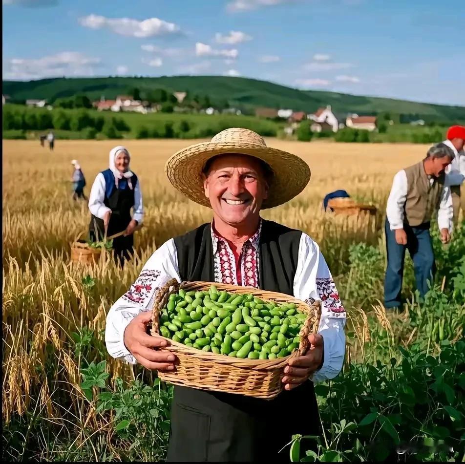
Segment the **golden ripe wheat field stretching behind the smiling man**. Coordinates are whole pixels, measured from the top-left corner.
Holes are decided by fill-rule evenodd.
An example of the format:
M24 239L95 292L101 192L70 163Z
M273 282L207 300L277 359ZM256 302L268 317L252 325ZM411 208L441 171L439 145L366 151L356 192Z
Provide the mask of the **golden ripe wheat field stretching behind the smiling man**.
M168 157L198 141L61 141L55 151L36 141L3 141L3 419L34 411L80 430L100 429L105 420L80 388L80 357L73 332L83 327L103 340L106 311L138 275L148 256L170 237L211 219L208 208L183 198L164 174ZM289 204L263 217L298 228L321 247L338 283L339 263L349 243L372 241L383 248L382 221L393 175L421 160L427 146L285 142L267 145L291 151L310 166L307 188ZM108 167L108 152L123 144L131 153L144 199L144 228L137 232L137 256L123 271L111 260L93 266L70 262L70 243L85 234L89 212L71 198L72 159L79 160L88 195L95 175ZM292 178L289 179L292 182ZM326 193L344 189L378 207L374 220L324 214ZM93 285L83 285L90 275ZM378 295L380 298L382 295ZM355 309L354 309L355 311ZM359 311L359 309L357 309ZM350 313L350 311L349 311ZM366 332L361 317L359 334ZM363 328L365 327L365 328ZM361 336L363 342L364 336ZM104 350L104 347L103 347ZM96 351L95 360L100 360ZM114 379L132 370L107 358ZM66 406L64 406L66 405Z

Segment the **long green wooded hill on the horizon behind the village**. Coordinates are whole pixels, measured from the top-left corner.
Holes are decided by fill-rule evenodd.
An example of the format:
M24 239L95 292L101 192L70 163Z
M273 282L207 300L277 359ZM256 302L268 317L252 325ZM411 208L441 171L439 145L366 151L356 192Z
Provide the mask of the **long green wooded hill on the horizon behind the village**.
M170 91L188 91L190 96L208 95L211 102L224 102L243 110L253 111L259 106L291 108L313 112L320 106L331 105L336 113L358 112L377 114L415 114L426 121L465 121L465 107L416 103L390 98L364 97L336 92L298 90L271 82L224 76L173 76L173 77L104 77L57 78L38 81L3 81L2 92L14 101L47 99L53 102L60 97L85 94L92 100L102 95L115 98L131 88L144 92L156 88Z

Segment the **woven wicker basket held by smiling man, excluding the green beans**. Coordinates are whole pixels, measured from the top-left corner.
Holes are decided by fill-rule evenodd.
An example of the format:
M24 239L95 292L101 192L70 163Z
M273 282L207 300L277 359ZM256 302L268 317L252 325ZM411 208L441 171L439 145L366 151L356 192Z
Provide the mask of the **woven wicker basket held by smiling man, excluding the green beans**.
M183 282L179 284L171 279L155 298L152 310L151 335L159 334L159 313L166 306L169 295L176 293L179 288L185 291L208 290L215 285L218 291L226 290L238 295L248 293L264 301L278 303L295 303L297 308L307 313L307 319L299 333L300 345L291 355L279 359L237 359L226 355L219 355L196 348L185 346L171 339L170 345L164 350L176 355L177 363L174 371L159 371L158 377L175 385L183 385L201 390L213 390L226 393L251 396L271 400L283 389L284 368L289 359L302 356L308 349L308 335L317 333L321 317L319 301L311 307L292 296L281 293L267 292L253 287L239 287L212 282Z

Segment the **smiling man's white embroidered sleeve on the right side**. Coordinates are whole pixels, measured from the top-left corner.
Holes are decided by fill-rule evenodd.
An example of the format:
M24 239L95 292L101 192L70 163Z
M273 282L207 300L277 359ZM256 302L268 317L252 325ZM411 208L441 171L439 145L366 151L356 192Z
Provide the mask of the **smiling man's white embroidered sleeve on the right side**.
M332 379L339 374L344 361L344 327L347 316L318 245L305 233L300 238L294 295L309 304L316 300L321 302L321 320L317 334L323 337L323 359L321 368L316 370L312 380L320 382Z

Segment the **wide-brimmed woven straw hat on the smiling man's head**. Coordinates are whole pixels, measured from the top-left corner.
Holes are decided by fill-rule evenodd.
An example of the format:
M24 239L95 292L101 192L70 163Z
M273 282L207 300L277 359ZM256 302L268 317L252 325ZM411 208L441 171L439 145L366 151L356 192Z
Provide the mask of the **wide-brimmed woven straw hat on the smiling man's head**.
M273 170L268 198L262 209L273 208L298 195L310 180L310 168L296 155L267 147L263 137L249 129L232 127L216 134L211 142L202 142L179 150L165 165L173 187L200 205L211 207L205 197L202 170L213 156L238 153L254 156Z

